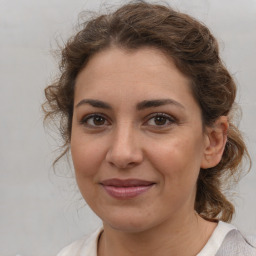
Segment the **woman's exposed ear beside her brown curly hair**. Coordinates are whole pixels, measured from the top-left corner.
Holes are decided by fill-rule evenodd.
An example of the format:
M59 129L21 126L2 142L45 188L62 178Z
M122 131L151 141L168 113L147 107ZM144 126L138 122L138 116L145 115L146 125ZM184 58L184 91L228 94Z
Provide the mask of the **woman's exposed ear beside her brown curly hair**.
M228 117L219 117L212 126L206 127L202 169L216 166L221 158L227 142Z

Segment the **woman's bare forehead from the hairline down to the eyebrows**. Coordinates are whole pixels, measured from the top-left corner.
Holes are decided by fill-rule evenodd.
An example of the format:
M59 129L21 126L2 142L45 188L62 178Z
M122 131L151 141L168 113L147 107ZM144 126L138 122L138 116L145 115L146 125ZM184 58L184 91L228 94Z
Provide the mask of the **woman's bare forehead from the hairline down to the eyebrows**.
M75 103L83 97L123 103L166 97L193 101L190 80L155 48L109 48L95 54L76 80Z

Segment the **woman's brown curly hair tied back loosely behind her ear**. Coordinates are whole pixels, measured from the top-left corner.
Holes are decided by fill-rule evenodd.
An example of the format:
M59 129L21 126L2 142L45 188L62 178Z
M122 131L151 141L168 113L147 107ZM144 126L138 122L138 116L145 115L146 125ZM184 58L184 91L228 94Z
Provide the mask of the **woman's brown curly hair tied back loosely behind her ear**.
M204 126L212 125L220 116L230 117L236 85L219 57L217 41L209 29L168 6L132 2L83 23L62 50L60 77L45 89L43 104L45 118L57 118L64 140L63 152L56 161L69 150L76 77L95 53L113 45L130 50L150 46L170 56L191 80ZM229 118L228 139L220 163L201 169L198 177L195 210L206 219L232 219L234 206L223 194L224 178L230 181L231 177L238 177L242 159L250 159L242 136L231 121Z

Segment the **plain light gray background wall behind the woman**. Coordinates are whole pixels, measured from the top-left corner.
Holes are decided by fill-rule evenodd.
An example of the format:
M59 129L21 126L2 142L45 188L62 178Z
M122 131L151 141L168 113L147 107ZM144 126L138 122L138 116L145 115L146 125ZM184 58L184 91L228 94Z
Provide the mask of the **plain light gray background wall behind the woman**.
M81 199L68 165L58 166L62 176L54 174L57 142L43 128L40 104L57 70L51 55L56 38L65 40L78 14L98 10L101 2L0 0L1 256L55 255L100 223ZM255 163L256 0L168 2L203 21L219 40L221 56L239 87L240 128ZM256 234L255 184L254 164L236 191L233 220L248 234Z

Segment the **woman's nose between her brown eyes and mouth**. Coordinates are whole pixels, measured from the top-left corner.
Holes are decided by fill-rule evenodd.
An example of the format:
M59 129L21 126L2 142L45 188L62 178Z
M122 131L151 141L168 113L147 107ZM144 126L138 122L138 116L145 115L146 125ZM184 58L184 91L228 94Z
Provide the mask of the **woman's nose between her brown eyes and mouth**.
M138 132L134 128L119 127L113 131L106 161L118 169L132 168L143 161Z

